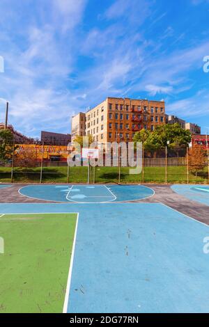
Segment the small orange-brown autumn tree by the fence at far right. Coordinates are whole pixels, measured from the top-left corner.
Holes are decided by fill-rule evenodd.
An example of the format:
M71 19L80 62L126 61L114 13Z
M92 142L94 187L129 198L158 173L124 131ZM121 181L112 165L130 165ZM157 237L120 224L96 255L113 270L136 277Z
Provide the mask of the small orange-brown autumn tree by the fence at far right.
M197 176L197 172L199 170L203 170L206 166L206 157L207 152L203 150L203 148L199 145L196 145L189 149L188 153L188 163L189 163L189 171L191 173L195 173Z

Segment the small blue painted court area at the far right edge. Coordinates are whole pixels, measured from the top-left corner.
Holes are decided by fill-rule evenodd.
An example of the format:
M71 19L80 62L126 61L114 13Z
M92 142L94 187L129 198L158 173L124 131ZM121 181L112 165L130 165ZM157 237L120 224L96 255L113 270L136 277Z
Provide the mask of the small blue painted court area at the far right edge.
M209 185L172 185L171 189L189 200L209 205Z

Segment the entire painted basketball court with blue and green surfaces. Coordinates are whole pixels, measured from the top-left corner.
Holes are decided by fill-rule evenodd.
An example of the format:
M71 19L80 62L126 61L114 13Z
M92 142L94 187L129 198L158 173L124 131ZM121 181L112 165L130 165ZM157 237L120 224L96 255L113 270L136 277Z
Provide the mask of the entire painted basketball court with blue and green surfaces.
M13 258L19 249L14 244L8 252L11 233L13 239L20 235L16 229L23 231L24 224L27 235L23 243L26 253L22 255L19 250L21 265L13 283L15 294L24 289L19 299L22 304L15 305L4 288L1 312L13 312L15 308L21 312L25 305L27 312L209 312L209 265L208 255L203 251L204 240L209 236L209 208L187 200L173 187L114 184L1 187L0 228L4 231L7 265L3 265L0 255L0 266L5 276L11 273L11 278L14 276L9 268L10 265L15 268ZM202 188L208 186L199 187L204 195ZM15 198L16 203L9 203L9 198ZM181 209L192 211L196 205L197 218ZM34 243L36 230L38 244L50 242L40 254L36 253L40 246ZM57 234L53 235L54 231ZM65 255L59 262L61 253ZM33 267L26 258L31 260L36 255L39 258L36 283L30 284L31 275L25 275L22 266ZM51 260L48 268L44 264L47 259ZM24 280L19 283L22 274ZM62 285L56 305L54 298L57 300L58 291L55 289L53 294L52 285L57 289ZM38 306L34 306L33 294Z

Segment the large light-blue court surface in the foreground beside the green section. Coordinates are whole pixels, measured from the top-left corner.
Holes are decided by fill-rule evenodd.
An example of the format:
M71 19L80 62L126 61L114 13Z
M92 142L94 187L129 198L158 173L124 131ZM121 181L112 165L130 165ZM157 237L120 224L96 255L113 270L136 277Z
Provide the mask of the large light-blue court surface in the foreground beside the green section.
M160 203L0 204L44 212L79 214L64 312L209 312L207 225Z

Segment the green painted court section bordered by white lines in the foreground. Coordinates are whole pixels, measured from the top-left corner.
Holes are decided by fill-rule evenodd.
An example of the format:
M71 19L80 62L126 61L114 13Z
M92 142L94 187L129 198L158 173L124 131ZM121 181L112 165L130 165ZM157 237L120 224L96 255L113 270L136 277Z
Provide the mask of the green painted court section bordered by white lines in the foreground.
M62 312L77 214L0 214L0 313Z

